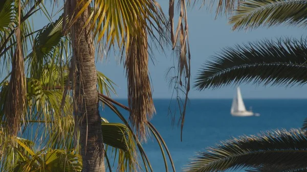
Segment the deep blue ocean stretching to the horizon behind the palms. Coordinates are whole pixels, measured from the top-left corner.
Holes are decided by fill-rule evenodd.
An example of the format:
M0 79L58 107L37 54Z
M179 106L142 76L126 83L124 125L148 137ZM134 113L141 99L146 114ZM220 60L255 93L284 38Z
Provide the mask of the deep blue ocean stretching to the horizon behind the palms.
M117 100L127 105L126 100ZM307 117L307 100L244 100L247 109L260 116L232 117L230 108L232 100L191 99L186 112L183 129L183 141L180 141L180 128L177 126L179 114L176 114L175 125L172 126L171 116L168 115L170 100L154 100L157 114L151 120L164 138L173 158L176 171L188 164L196 152L205 151L219 141L240 135L257 134L272 129L300 128ZM170 105L174 108L174 103ZM120 109L120 108L119 108ZM125 117L128 113L120 110ZM119 122L111 110L100 109L101 116L109 122ZM165 171L160 147L151 138L143 147L150 159L154 171ZM171 166L168 164L171 171ZM243 171L243 170L237 170Z

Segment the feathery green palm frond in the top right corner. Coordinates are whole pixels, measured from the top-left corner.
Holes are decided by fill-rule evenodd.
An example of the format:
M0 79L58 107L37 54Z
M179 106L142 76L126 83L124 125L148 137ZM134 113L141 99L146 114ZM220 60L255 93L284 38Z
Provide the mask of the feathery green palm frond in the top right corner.
M261 25L271 27L280 23L307 24L307 4L304 0L247 0L230 17L235 29L252 29Z

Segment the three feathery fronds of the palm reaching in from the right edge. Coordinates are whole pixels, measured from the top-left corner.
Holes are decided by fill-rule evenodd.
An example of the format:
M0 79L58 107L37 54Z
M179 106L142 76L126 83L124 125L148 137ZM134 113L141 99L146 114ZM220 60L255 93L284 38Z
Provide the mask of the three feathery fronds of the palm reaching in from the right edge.
M233 29L281 23L305 26L305 1L248 0L230 18ZM305 84L306 40L280 38L225 48L204 65L196 77L199 90L242 82L265 85ZM271 131L242 136L201 152L188 171L306 171L306 135L303 130ZM299 158L299 159L298 159Z

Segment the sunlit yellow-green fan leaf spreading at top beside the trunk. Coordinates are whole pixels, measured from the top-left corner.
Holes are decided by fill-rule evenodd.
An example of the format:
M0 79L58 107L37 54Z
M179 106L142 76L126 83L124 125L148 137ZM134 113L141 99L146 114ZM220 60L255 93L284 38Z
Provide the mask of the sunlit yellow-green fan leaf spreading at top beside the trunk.
M155 36L155 32L160 34L162 38L163 29L167 23L162 9L156 1L152 0L133 0L133 1L88 1L83 0L84 3L79 1L79 11L75 16L70 16L71 20L64 29L69 29L77 18L84 12L89 6L92 7L91 15L87 23L91 23L91 29L96 36L97 41L104 38L104 42L111 48L112 45L118 44L120 48L128 48L130 45L129 36L138 36L142 33L143 26L146 26L146 30L153 39L159 39ZM77 5L77 6L78 6ZM70 4L66 4L70 8ZM66 15L66 14L65 14ZM141 17L142 16L142 17ZM140 20L138 23L135 21ZM164 39L165 40L165 39ZM108 48L108 50L109 50Z

